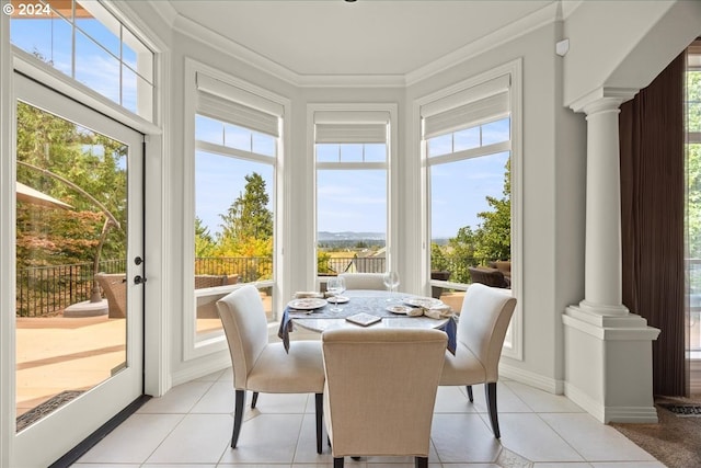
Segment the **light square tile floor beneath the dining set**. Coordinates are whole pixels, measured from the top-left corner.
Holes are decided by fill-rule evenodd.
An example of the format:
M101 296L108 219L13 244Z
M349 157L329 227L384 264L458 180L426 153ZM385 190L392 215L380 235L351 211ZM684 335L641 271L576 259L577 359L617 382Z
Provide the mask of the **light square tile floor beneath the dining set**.
M152 399L103 438L74 468L319 468L314 399L261 395L235 449L231 369L173 388ZM464 387L440 387L432 431L430 468L664 468L613 427L562 396L516 381L498 384L502 438L492 435L482 386L474 403ZM250 396L248 399L250 404ZM348 468L413 467L411 458L346 460Z

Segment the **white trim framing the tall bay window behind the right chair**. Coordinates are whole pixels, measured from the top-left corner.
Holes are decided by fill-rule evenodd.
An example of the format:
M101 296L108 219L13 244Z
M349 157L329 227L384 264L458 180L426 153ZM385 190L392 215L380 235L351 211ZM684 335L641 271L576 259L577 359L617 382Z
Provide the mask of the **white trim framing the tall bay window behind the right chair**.
M435 93L418 98L413 102L412 112L412 142L415 148L421 148L421 193L426 194L429 187L427 175L427 156L426 148L423 144L421 134L422 107L426 105L436 105L447 96L456 93L469 93L470 89L479 90L491 80L497 80L499 77L508 75L510 77L509 88L509 106L510 106L510 171L512 171L512 294L517 298L516 310L512 318L509 331L503 349L502 355L514 359L524 359L524 342L522 342L522 60L517 58L492 70L485 71L459 83L437 91ZM489 87L489 84L487 84ZM444 101L445 102L445 101ZM482 150L483 148L480 148ZM450 159L453 155L446 158ZM443 157L435 157L443 158ZM433 159L433 158L432 158ZM430 219L430 199L428 196L422 196L421 219L422 219L422 259L421 259L421 284L425 289L430 285L444 287L457 287L449 282L437 282L430 279L430 239L428 239L429 219Z

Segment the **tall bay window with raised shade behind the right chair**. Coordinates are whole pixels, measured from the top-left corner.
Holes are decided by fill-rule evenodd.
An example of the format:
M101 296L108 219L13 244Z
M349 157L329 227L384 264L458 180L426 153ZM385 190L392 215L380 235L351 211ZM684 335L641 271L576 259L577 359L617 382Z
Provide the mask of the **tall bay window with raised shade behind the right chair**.
M473 282L514 290L517 281L512 181L519 72L510 64L418 103L426 277L433 295L457 310ZM518 357L520 311L514 317L505 349Z

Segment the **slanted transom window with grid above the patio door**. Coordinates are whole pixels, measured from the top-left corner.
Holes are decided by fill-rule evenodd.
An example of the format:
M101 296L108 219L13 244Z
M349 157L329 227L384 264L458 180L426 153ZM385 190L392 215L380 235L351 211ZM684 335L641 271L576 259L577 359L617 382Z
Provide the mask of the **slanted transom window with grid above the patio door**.
M153 53L96 1L12 2L10 41L150 121Z

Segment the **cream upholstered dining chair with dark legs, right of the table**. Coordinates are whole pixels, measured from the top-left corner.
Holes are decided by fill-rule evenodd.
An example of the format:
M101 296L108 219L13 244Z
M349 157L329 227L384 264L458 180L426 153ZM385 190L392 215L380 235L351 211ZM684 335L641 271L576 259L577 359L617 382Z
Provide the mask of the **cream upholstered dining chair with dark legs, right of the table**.
M468 288L460 318L455 355L446 353L440 385L467 386L472 398L472 386L484 384L484 395L490 411L492 431L501 437L496 415L496 381L499 377L499 358L516 298L509 289L472 283Z

